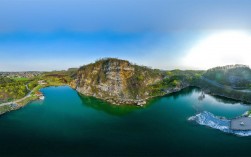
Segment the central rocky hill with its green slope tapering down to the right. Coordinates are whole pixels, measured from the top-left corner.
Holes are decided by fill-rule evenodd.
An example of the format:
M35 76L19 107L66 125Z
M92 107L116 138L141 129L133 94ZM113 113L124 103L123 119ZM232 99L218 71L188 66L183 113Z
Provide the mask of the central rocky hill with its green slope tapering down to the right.
M82 66L71 86L113 104L143 105L146 100L190 86L202 71L164 71L106 58Z

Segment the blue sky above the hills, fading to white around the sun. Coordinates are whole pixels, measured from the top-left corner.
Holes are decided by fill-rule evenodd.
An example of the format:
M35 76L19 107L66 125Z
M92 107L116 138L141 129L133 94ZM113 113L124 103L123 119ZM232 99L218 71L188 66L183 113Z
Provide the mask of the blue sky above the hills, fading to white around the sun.
M211 44L233 43L222 36L210 43L212 35L249 35L250 8L250 0L0 0L0 71L64 70L104 57L167 70L207 69L216 62L201 66L194 60L205 59L191 56L210 56L204 50ZM223 58L217 64L249 61L243 60L248 53L240 58L236 52L225 61L227 52L217 51Z

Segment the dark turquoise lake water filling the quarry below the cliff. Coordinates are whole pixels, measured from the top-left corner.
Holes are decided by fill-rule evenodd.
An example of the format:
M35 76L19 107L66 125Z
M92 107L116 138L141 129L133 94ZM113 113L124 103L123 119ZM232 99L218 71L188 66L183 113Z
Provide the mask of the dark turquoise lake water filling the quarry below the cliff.
M190 122L207 110L233 118L250 106L187 88L145 108L111 106L48 87L44 101L0 117L0 156L249 156L251 138Z

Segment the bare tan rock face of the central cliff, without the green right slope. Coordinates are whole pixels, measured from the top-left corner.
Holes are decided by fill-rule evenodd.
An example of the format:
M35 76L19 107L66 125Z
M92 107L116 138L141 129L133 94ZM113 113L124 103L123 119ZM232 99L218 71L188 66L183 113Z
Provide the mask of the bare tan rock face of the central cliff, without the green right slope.
M162 80L160 71L133 65L125 60L102 59L79 69L72 86L87 96L113 104L143 105L148 86Z

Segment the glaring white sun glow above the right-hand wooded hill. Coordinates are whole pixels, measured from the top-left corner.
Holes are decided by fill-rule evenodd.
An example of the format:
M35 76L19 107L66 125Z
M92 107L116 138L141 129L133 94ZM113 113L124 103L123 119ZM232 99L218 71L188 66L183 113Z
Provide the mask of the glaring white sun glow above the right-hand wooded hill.
M193 69L229 64L251 65L251 36L240 31L213 34L189 50L182 63Z

